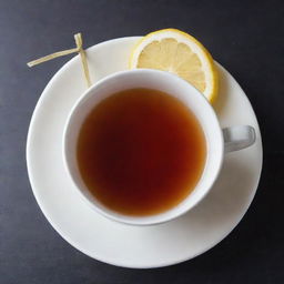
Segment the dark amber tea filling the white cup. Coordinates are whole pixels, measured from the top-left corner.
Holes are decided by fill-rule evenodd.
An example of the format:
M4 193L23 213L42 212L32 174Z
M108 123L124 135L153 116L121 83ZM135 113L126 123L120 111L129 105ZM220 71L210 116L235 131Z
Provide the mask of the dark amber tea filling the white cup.
M166 93L132 89L103 100L81 128L77 158L89 191L128 215L150 215L183 201L206 160L193 113Z

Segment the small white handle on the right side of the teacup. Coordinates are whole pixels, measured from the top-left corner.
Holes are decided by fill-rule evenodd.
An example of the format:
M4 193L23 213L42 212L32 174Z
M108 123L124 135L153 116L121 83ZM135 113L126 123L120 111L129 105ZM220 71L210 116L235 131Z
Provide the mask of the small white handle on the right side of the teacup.
M255 130L250 125L222 129L225 153L251 146L255 142Z

